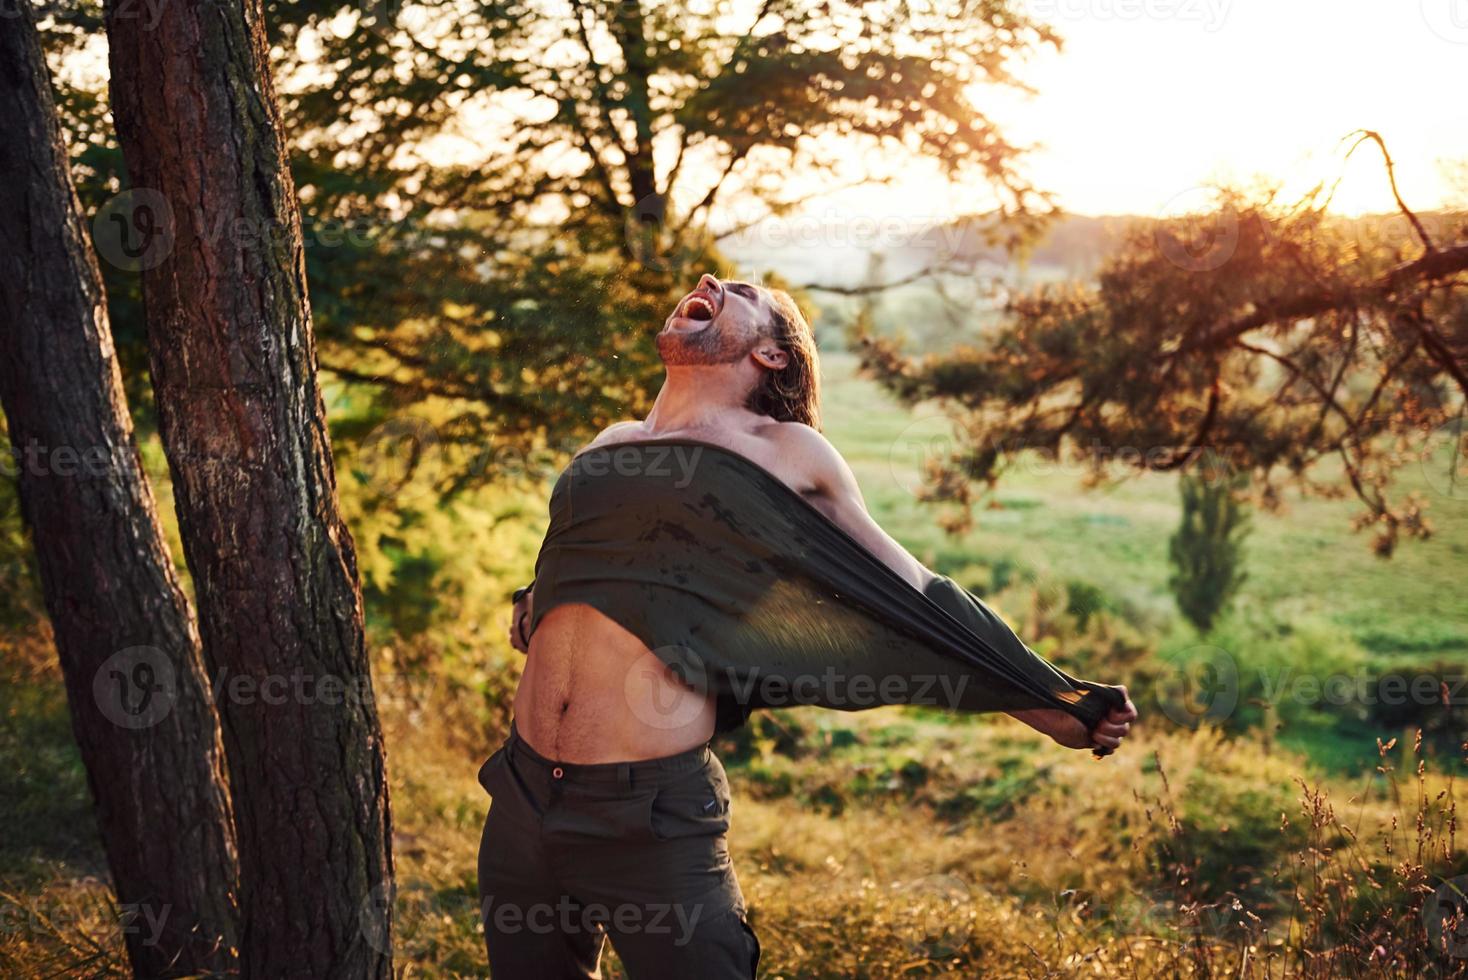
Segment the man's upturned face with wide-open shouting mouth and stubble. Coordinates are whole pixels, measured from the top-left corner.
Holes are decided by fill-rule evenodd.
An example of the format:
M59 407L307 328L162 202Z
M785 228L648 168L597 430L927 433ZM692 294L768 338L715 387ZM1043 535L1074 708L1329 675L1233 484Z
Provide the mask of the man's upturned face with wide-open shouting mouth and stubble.
M658 333L664 364L734 364L749 355L769 323L759 286L703 276L678 301Z

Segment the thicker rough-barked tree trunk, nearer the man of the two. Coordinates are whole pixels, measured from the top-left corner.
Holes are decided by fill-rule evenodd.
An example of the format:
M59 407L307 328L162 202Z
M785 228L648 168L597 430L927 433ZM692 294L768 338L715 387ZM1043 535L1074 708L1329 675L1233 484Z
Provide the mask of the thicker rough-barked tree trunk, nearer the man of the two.
M129 183L172 232L142 295L204 656L226 678L241 970L388 977L382 729L260 3L184 0L156 23L144 7L106 6L112 101Z

